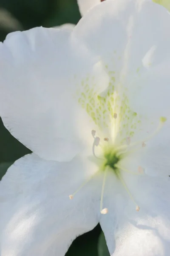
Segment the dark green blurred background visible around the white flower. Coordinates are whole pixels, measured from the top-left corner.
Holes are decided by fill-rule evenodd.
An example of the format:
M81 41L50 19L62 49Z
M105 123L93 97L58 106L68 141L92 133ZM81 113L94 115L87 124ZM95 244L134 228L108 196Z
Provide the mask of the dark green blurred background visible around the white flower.
M0 0L0 41L15 30L76 24L80 17L76 0ZM0 120L0 179L15 160L29 152L28 148L11 136ZM109 255L100 226L78 237L66 255Z

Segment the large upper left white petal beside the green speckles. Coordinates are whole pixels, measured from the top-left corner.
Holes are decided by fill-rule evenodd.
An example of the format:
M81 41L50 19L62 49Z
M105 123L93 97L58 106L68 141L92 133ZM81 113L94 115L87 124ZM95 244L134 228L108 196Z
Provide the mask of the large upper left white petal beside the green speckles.
M71 160L91 142L94 125L75 100L75 79L100 90L107 79L102 64L70 35L34 28L0 44L0 116L14 137L46 160Z

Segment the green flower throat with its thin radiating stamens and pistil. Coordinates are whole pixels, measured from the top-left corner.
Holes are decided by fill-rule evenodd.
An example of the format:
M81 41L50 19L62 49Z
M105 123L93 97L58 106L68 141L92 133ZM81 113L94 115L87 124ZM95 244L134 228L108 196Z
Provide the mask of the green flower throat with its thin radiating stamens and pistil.
M136 204L136 201L134 200L133 195L130 193L130 190L128 189L128 187L125 183L125 180L122 178L122 172L128 172L128 173L134 174L134 175L143 175L144 169L141 166L139 166L137 172L131 172L131 171L127 170L126 167L122 166L121 159L123 157L125 157L125 155L127 157L129 152L130 153L133 152L134 149L131 150L131 148L135 147L135 151L136 151L136 149L137 149L136 145L139 146L138 148L140 148L140 147L144 148L146 146L145 142L150 140L152 137L154 137L160 131L160 129L162 128L162 126L164 125L166 120L167 120L166 117L161 116L160 120L159 120L158 128L153 132L153 134L151 134L149 137L145 138L144 140L131 143L130 137L127 137L126 144L120 145L119 147L116 147L116 149L113 146L111 147L109 145L109 138L105 137L103 141L105 143L108 143L108 146L103 147L103 156L102 157L100 157L100 156L98 157L95 154L95 147L98 147L100 145L101 140L99 137L96 136L96 131L92 130L91 135L94 137L94 143L92 146L93 155L95 158L102 161L102 162L100 162L100 163L102 163L102 168L99 168L99 170L94 175L89 177L88 180L85 180L85 182L77 189L76 192L74 192L74 194L69 195L69 198L73 199L74 195L80 189L82 189L82 187L85 186L85 184L88 183L89 180L91 180L97 173L99 173L99 171L102 170L104 172L104 177L103 177L101 200L100 200L100 212L102 214L108 213L108 209L103 208L102 205L103 205L103 195L104 195L104 189L105 189L106 176L107 176L108 170L110 170L114 173L114 175L116 175L116 177L119 179L119 181L122 183L125 190L127 191L127 194L130 196L132 201ZM140 207L136 204L136 211L139 212L139 209L140 209Z

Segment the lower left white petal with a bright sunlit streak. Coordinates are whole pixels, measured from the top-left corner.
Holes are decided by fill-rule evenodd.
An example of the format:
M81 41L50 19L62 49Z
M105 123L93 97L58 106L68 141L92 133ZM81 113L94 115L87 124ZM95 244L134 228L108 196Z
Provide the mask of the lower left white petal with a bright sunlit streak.
M57 163L32 153L17 160L0 183L1 255L64 256L78 235L98 223L93 182L68 198L91 172L92 164L79 157Z

